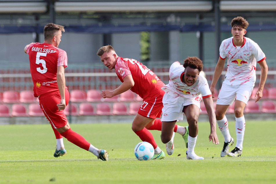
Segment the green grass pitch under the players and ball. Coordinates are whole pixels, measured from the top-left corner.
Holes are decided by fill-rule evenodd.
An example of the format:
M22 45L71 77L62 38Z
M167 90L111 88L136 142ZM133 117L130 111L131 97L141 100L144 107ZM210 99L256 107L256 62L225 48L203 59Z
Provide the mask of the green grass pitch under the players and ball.
M187 126L187 123L178 123ZM54 158L55 136L50 125L0 126L0 183L275 183L275 121L247 121L240 157L220 157L220 144L209 142L210 125L199 122L195 152L204 160L187 160L182 136L174 138L174 153L165 159L139 161L134 147L140 139L125 124L71 124L99 149L109 152L109 161L98 160L64 138L67 155ZM236 141L235 123L229 122ZM166 153L160 131L151 131ZM234 149L236 143L230 149Z

